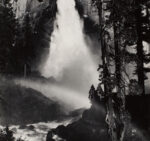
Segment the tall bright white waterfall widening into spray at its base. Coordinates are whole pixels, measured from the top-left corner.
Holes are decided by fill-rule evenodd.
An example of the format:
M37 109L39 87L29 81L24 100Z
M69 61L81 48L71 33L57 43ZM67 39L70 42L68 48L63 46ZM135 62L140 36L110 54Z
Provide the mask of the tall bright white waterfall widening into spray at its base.
M42 75L54 77L67 87L87 92L90 85L97 82L98 73L84 40L83 23L74 0L57 0L57 6L50 54Z

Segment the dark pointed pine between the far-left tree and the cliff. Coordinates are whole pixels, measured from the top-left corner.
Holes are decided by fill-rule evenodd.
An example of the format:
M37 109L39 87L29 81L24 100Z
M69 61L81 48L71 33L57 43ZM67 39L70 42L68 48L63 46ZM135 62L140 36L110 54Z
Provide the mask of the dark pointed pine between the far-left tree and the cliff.
M16 44L12 53L12 64L16 75L23 75L31 71L32 61L35 58L33 38L30 15L26 14L23 22L18 25ZM25 69L27 72L24 72Z

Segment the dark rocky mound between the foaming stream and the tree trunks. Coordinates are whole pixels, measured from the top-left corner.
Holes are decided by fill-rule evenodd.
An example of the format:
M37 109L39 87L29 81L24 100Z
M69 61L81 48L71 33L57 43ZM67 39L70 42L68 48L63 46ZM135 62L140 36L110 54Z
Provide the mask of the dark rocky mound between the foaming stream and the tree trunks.
M78 121L49 131L47 141L54 140L54 135L66 141L110 141L103 108L92 106Z

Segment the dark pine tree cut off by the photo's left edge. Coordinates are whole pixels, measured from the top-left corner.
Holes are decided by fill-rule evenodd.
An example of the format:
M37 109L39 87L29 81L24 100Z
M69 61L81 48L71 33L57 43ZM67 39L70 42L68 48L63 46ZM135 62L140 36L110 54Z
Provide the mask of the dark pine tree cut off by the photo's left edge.
M6 73L16 35L16 18L10 0L5 0L0 5L0 19L0 72Z

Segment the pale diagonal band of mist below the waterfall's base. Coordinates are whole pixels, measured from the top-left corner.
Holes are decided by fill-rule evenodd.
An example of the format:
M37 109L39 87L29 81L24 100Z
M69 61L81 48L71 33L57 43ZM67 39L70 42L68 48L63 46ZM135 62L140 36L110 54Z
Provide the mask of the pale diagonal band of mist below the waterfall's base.
M35 82L27 79L16 79L15 83L35 89L49 99L59 102L66 112L79 108L89 108L91 105L87 95L62 87L59 84L41 83L40 81Z

